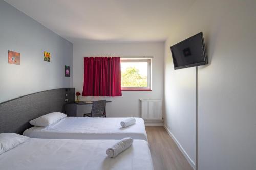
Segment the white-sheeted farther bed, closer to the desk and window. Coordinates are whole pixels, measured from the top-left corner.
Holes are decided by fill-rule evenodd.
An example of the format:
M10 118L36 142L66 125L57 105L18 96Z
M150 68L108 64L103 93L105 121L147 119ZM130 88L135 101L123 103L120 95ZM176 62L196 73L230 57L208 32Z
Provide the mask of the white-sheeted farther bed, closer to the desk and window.
M136 118L136 123L126 128L120 125L125 118L66 117L48 127L32 127L23 135L31 138L47 139L122 139L131 137L147 141L144 120Z

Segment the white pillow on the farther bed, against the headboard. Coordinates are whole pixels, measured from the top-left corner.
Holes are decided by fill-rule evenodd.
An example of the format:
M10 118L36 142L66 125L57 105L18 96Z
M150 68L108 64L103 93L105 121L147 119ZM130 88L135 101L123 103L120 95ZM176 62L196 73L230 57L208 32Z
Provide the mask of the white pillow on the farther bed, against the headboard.
M56 122L59 122L59 120L67 117L66 114L60 113L60 112L53 112L46 115L43 115L41 117L38 117L36 119L30 120L29 123L34 126L42 126L47 127L49 125L52 125Z

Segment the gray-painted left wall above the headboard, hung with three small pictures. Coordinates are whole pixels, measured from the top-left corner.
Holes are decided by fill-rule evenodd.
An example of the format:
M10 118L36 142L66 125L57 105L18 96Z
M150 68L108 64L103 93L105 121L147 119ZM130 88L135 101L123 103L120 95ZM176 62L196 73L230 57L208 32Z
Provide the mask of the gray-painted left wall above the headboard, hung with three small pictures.
M21 54L20 65L8 64L8 50ZM51 53L51 62L43 60L44 51ZM72 68L72 58L72 43L0 0L0 102L70 87L72 77L63 72L64 65Z

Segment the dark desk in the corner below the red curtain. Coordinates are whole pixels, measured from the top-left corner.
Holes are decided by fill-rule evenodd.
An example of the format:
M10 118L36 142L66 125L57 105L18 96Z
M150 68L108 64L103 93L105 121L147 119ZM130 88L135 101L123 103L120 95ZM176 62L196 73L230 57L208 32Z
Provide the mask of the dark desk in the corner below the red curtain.
M92 101L93 102L93 101ZM111 101L106 101L106 103L109 103ZM77 106L78 105L92 105L93 103L85 103L83 101L80 101L79 103L66 103L64 105L64 113L67 114L69 117L76 117L76 112L77 112Z

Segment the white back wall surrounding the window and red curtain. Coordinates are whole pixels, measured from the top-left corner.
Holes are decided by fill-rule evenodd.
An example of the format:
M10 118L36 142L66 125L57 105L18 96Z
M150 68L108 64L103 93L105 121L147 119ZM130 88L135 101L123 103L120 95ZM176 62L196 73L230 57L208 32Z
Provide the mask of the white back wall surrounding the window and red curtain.
M108 117L139 116L139 99L163 99L163 78L164 78L164 43L74 43L73 53L74 81L76 91L82 92L84 63L83 57L91 56L153 56L152 59L152 91L122 91L119 97L82 97L81 100L111 100L107 104L106 112ZM90 108L81 108L78 116L82 115L82 109L90 111Z

